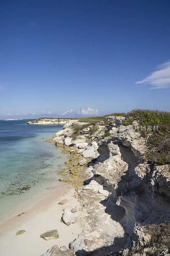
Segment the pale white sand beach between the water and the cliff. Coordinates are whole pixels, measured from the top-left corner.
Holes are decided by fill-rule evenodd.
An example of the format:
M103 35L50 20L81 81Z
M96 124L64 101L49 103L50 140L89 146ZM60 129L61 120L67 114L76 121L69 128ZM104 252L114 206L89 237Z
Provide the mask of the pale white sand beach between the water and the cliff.
M65 194L66 191L68 194ZM81 232L78 223L67 226L60 222L64 207L69 206L70 209L75 206L79 207L79 202L73 197L74 192L75 190L68 188L68 184L66 184L29 207L22 216L14 216L2 222L0 224L1 255L40 256L55 244L68 248L69 243ZM63 199L68 199L69 203L58 204ZM24 229L26 232L15 236L20 229ZM45 241L40 238L42 233L51 229L58 230L59 239Z

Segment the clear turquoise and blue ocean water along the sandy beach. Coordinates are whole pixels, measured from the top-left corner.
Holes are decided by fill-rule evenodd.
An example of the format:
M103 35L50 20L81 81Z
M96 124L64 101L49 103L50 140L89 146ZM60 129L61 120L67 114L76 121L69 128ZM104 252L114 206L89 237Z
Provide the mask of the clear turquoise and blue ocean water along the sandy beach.
M45 141L63 126L26 121L0 120L0 222L63 185L58 178L67 156Z

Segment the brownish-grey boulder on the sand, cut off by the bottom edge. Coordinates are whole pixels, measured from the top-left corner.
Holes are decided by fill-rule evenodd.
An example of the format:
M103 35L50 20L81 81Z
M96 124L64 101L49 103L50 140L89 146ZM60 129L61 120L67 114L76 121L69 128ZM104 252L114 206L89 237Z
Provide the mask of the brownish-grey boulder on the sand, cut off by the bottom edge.
M66 249L65 251L63 251L62 249L59 249L57 245L54 245L47 252L43 253L41 256L74 256L74 255L75 253L73 249L69 249L69 250Z

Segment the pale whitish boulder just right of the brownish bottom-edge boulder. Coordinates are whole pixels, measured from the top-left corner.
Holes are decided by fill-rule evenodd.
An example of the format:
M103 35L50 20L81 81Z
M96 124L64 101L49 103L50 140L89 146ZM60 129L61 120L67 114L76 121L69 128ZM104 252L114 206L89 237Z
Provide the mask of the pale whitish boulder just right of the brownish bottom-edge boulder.
M86 256L95 251L96 245L93 241L79 236L71 243L71 248L74 249L77 256Z

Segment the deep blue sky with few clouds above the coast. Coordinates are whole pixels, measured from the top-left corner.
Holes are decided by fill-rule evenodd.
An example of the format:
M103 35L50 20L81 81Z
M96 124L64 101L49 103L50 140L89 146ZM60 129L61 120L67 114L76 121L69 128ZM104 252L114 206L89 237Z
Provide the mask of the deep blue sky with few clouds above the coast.
M0 119L170 110L169 0L2 1Z

